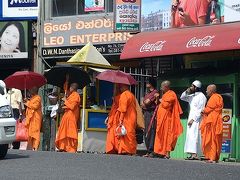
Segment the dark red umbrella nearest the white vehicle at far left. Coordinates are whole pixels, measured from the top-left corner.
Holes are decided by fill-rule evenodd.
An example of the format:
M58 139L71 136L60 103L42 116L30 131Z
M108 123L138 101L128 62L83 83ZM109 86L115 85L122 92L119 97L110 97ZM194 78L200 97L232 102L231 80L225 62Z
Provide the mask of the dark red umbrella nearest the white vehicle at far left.
M8 88L26 90L33 87L41 87L47 83L47 80L43 75L35 72L17 71L8 76L4 82Z

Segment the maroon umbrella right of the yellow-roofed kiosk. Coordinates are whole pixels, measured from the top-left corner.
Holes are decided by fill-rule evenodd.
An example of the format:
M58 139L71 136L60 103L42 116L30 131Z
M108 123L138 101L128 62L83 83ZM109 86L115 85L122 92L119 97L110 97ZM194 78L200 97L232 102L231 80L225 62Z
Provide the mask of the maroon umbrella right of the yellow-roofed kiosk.
M107 70L97 75L99 80L109 81L112 83L136 85L137 81L128 73L115 70Z

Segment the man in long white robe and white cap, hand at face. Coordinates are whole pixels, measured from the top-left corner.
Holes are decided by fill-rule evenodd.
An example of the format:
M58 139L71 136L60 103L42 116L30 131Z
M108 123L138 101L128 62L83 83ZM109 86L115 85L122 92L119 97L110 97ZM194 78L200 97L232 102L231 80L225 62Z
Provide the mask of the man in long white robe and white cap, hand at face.
M180 97L181 100L186 101L190 105L190 112L188 116L186 142L184 152L190 154L188 160L197 160L197 150L200 143L199 139L199 124L202 119L201 112L205 107L207 98L200 92L202 84L195 80L191 87L184 91Z

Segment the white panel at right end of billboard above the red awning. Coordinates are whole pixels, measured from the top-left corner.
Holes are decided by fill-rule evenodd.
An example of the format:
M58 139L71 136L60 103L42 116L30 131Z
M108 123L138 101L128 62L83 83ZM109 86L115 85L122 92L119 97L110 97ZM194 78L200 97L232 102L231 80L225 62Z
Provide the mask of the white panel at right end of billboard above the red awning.
M240 21L240 0L225 0L224 22Z

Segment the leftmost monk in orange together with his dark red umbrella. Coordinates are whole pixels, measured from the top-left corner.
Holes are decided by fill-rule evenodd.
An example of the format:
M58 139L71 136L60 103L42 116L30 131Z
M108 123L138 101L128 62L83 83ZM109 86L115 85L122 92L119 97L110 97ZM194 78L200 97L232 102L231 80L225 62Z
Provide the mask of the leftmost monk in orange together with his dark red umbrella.
M42 102L38 95L38 88L46 84L41 74L30 71L18 71L7 77L5 83L8 88L25 90L24 104L26 106L25 126L28 129L28 149L37 150L40 144L40 130L42 125ZM30 99L26 99L26 90L30 92Z

